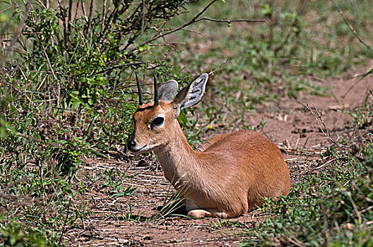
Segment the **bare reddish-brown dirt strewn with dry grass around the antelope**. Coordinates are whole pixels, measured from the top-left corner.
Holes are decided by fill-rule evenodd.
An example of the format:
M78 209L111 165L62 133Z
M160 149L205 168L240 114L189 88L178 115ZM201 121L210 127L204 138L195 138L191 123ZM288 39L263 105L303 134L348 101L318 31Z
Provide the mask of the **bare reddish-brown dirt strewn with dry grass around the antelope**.
M361 133L350 125L353 118L342 110L361 107L373 78L357 83L357 79L324 82L330 87L328 97L300 95L297 100L283 99L276 104L261 105L254 114L247 114L252 126L263 119L263 135L276 143L283 151L290 167L291 182L305 174L325 169L332 161L322 159L321 152L333 143L326 138L321 128L324 125L332 140L349 138L354 140ZM348 88L353 88L345 95ZM345 95L345 97L343 97ZM306 105L317 109L312 114ZM321 128L320 128L321 127ZM230 131L233 131L231 129ZM208 133L214 135L219 133ZM66 231L71 246L238 246L247 229L259 227L264 220L259 210L249 212L229 221L220 219L188 219L186 217L160 215L155 207L170 200L174 189L164 178L152 155L134 157L118 155L109 160L86 160L79 171L78 179L85 181L83 174L99 174L114 169L114 175L125 174L124 186L135 188L133 195L112 197L112 190L102 186L103 179L97 176L87 182L88 190L83 197L89 199L88 208L93 215L77 222L76 228ZM113 180L121 179L120 176Z

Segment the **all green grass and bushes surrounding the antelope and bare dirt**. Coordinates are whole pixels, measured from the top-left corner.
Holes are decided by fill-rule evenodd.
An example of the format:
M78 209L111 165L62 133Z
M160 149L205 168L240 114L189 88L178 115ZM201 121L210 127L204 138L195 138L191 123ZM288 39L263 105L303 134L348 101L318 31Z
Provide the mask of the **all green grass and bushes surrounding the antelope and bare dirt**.
M86 191L95 181L113 200L136 194L123 183L132 175L83 170L88 159L135 162L125 150L134 72L148 100L153 72L182 85L212 72L209 97L179 118L191 145L220 123L264 128L245 121L258 105L328 95L318 82L358 68L357 79L371 77L371 8L369 0L0 1L1 244L69 245L66 231L93 215ZM373 246L372 90L363 100L340 109L361 135L331 142L319 157L333 159L328 172L268 200L260 227L240 229L242 244ZM128 211L118 220L138 219Z

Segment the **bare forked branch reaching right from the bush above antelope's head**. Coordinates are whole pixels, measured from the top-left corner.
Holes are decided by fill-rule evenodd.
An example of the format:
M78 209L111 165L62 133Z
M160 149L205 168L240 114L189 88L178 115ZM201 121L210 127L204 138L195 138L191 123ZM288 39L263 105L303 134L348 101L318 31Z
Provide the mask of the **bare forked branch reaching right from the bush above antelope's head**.
M199 12L196 16L194 16L194 18L192 18L188 23L185 23L184 25L181 25L179 26L178 28L174 28L172 30L169 30L163 34L159 34L159 35L155 35L155 37L152 37L151 39L149 40L146 40L144 42L142 42L141 44L138 45L138 47L141 47L143 46L144 44L148 44L149 42L152 42L154 40L158 40L160 37L164 37L166 35L170 35L172 32L177 32L179 30L182 30L184 28L186 28L187 26L193 24L193 23L196 23L196 22L199 22L201 20L211 20L211 21L215 21L215 22L219 22L219 23L237 23L237 22L246 22L246 23L264 23L266 22L267 20L216 20L216 19L212 19L212 18L207 18L207 17L201 17L199 18L203 13L205 13L205 11L210 8L210 6L215 3L215 1L218 1L218 0L213 0L211 1L210 4L208 4L205 8L203 8L203 10L201 12ZM131 51L129 51L128 53L132 53L132 52L135 52L138 47L135 47L134 49L131 49Z

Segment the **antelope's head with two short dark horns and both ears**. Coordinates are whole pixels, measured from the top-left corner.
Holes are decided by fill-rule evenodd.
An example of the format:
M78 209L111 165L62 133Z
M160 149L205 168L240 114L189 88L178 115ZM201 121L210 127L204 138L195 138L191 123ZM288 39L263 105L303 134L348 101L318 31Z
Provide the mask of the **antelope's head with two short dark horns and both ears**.
M154 76L154 102L143 104L141 86L136 74L138 109L134 120L134 132L127 140L127 148L135 154L150 152L156 147L167 145L177 134L177 116L180 110L197 104L206 88L208 74L203 73L177 93L177 81L169 80L160 85Z

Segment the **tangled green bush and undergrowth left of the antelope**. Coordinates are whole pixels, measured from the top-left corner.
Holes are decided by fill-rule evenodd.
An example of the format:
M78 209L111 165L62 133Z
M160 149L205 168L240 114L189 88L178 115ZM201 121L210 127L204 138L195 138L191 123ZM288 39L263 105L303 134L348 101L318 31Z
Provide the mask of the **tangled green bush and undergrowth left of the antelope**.
M80 158L124 150L134 71L167 71L146 59L157 47L140 44L186 2L47 4L1 5L14 17L1 23L0 64L0 236L10 246L59 245L89 215L86 201L71 203L84 191L71 185Z

